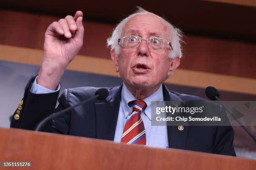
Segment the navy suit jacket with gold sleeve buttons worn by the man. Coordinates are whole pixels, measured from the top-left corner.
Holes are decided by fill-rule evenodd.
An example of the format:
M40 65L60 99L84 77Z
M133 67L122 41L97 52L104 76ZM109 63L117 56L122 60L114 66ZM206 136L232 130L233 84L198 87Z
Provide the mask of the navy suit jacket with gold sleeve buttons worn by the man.
M35 78L35 77L34 77ZM20 118L11 120L11 128L35 130L36 125L48 115L70 107L95 95L97 87L77 87L48 94L30 92L32 78L25 89ZM75 135L88 138L114 140L118 119L122 86L107 87L109 95L105 100L92 100L79 105L49 121L45 132ZM163 85L164 100L204 100L200 97L179 94ZM55 109L56 102L59 106ZM16 114L16 111L14 115ZM169 148L193 150L205 153L233 155L234 132L231 126L167 126Z

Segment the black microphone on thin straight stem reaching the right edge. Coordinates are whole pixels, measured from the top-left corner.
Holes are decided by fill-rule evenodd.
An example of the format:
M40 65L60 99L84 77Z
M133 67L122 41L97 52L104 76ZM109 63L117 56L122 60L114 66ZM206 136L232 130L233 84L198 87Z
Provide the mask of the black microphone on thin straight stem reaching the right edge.
M255 136L243 125L242 122L240 122L239 120L236 119L236 117L225 107L225 105L220 101L219 97L220 97L220 93L218 92L218 90L215 87L209 86L206 87L205 89L205 94L206 96L210 99L210 100L217 100L218 102L220 102L220 105L222 105L225 110L228 111L228 113L239 123L239 125L242 126L242 128L248 133L248 135L251 136L251 138L253 138L254 142L256 142L256 138Z

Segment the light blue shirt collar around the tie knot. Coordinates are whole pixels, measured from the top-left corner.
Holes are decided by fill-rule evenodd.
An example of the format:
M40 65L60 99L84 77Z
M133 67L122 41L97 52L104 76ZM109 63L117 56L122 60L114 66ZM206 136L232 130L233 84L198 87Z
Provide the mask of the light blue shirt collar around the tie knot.
M127 117L133 111L133 106L128 105L128 103L133 100L137 100L137 99L127 89L127 87L125 86L125 83L123 83L123 88L122 88L121 94L122 94L121 95L121 105L123 107L123 113L124 113L125 117ZM143 112L147 115L149 120L151 120L151 101L163 101L163 100L164 100L164 95L163 95L162 85L152 95L143 99L143 101L146 102L146 104L147 104L147 107Z

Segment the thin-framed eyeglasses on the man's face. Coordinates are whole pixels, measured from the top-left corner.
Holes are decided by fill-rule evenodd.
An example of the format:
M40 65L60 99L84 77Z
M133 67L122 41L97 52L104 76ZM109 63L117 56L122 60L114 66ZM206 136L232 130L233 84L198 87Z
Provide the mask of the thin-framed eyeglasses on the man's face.
M166 50L168 45L172 48L171 42L168 42L164 38L148 37L148 39L142 39L141 37L136 35L126 35L122 38L119 38L118 45L119 42L122 41L121 45L124 48L138 48L138 46L141 44L141 40L147 41L148 47L151 50L164 51Z

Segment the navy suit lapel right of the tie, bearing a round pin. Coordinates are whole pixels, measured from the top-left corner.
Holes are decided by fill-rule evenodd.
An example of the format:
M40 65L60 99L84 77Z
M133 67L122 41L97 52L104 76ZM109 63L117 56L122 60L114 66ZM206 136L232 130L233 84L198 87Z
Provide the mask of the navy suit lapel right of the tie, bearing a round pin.
M163 94L165 101L180 101L181 99L170 92L165 85L163 85ZM169 148L185 149L186 138L189 126L185 126L184 130L179 130L178 126L167 126Z

